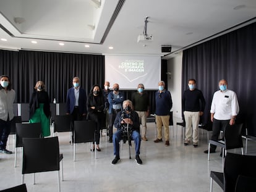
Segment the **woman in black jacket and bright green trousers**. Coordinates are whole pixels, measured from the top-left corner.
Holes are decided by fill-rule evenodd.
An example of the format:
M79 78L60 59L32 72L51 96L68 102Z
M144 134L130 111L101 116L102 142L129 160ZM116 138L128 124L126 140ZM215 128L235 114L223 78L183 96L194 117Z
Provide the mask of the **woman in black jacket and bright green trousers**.
M42 136L51 135L49 128L49 96L45 91L45 83L37 81L29 104L30 123L41 123Z

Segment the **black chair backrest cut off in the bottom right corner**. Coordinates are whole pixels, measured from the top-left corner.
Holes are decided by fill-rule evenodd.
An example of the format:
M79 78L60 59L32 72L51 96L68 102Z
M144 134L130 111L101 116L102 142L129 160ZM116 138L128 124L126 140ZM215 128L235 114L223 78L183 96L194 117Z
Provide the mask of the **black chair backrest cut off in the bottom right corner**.
M255 177L245 177L244 175L238 175L235 192L254 192L255 183Z

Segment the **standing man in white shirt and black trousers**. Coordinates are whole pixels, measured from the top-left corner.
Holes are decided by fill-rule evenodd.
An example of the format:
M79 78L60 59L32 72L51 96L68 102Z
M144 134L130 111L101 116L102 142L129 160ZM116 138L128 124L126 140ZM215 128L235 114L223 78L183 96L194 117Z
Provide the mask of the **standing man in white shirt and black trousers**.
M220 90L213 94L211 101L211 122L213 122L213 135L211 140L217 141L220 131L229 125L234 125L239 112L237 96L234 91L228 90L228 81L220 80ZM216 146L210 146L210 153L215 152ZM208 150L204 151L208 153Z

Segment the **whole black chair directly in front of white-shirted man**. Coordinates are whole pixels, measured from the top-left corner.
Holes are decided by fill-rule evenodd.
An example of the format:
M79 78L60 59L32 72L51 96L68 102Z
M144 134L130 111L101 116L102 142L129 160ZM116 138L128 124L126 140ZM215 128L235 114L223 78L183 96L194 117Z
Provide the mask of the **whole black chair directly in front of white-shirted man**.
M224 157L224 154L226 154L226 151L228 149L241 148L241 151L242 151L243 144L242 144L241 130L242 130L242 124L235 124L233 126L228 126L224 131L224 141L209 140L208 161L210 159L210 144L221 147L223 157ZM243 151L242 151L242 154L243 154Z

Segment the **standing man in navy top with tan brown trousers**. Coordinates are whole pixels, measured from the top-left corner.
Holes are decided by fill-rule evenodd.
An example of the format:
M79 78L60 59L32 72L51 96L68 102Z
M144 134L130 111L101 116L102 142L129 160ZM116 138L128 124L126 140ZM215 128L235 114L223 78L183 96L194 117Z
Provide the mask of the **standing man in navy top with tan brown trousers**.
M171 93L165 89L164 81L158 83L158 91L155 93L156 102L156 128L158 136L155 143L163 142L162 139L162 125L164 127L164 140L165 146L169 146L169 112L173 107L173 101L171 100Z

